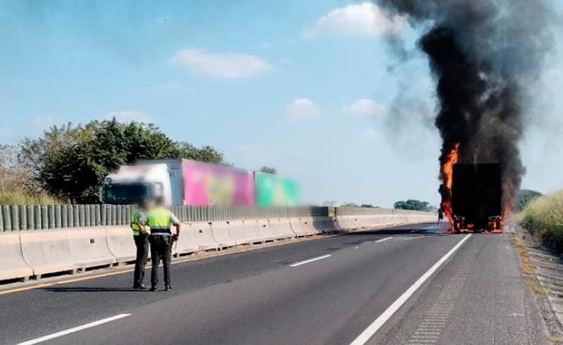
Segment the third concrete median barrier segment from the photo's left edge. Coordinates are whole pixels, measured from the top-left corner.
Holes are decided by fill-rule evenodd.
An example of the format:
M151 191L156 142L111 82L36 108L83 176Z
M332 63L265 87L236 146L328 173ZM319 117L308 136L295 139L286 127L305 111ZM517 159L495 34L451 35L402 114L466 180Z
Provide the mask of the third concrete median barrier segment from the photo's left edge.
M106 242L106 228L67 230L70 254L82 270L116 263Z

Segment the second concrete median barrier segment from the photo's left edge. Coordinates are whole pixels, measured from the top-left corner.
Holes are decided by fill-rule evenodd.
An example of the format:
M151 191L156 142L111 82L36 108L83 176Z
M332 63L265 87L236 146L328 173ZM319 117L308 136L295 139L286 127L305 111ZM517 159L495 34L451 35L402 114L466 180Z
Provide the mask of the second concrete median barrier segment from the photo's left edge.
M76 272L80 266L70 251L68 230L21 232L20 242L25 262L37 278L56 272Z

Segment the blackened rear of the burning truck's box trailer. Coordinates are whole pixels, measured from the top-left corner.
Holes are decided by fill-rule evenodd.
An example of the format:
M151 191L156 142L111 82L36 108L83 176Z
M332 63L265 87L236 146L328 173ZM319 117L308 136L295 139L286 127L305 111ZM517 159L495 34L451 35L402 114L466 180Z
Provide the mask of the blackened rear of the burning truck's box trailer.
M453 165L455 232L502 231L500 163Z

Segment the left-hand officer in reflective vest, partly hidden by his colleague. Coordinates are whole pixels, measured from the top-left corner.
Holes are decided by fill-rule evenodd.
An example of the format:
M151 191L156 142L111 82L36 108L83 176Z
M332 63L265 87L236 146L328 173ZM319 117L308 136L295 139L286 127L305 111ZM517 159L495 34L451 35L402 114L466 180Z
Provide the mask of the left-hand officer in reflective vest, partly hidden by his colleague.
M133 239L137 246L137 258L135 258L135 270L133 276L133 289L146 289L143 284L145 277L145 265L148 258L148 234L150 227L147 225L148 201L140 199L137 210L131 215L131 230Z

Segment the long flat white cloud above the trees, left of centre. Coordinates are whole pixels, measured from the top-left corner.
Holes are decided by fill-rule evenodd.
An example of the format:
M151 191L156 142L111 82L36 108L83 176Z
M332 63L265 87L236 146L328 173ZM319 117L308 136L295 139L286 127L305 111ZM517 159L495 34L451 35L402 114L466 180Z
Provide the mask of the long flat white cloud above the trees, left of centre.
M229 80L252 77L272 69L269 63L258 56L211 54L201 49L178 51L171 61L198 73Z

